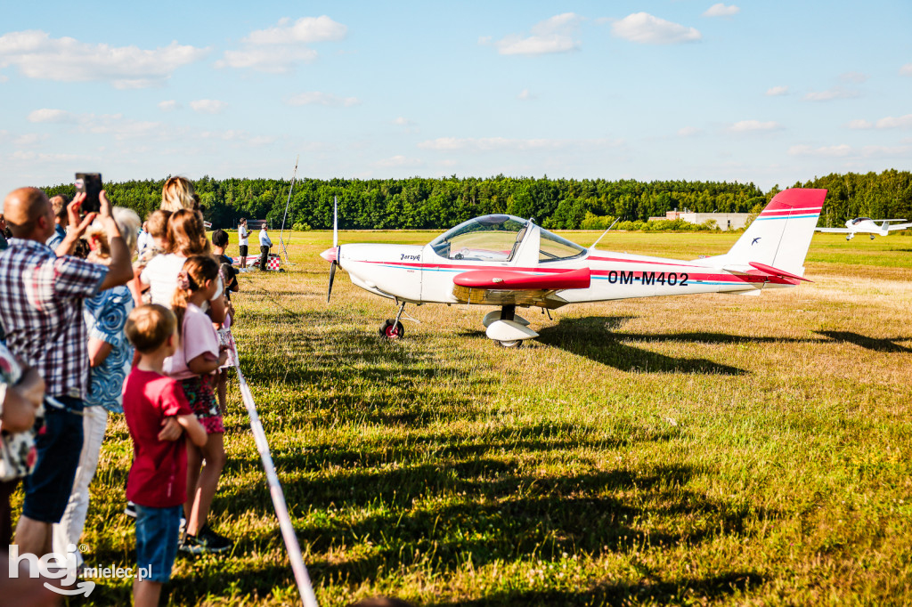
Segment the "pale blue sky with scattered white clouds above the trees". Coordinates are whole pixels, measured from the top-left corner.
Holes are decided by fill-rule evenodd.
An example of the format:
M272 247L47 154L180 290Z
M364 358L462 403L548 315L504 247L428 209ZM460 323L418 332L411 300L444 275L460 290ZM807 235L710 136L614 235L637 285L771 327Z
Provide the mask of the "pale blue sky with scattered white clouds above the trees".
M0 190L912 169L912 3L9 3Z

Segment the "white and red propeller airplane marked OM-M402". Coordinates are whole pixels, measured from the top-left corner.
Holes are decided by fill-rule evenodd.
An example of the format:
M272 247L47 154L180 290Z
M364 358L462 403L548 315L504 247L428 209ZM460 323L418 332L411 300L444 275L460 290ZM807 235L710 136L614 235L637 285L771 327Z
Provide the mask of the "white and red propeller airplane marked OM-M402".
M537 337L516 307L550 311L568 304L630 297L737 293L792 287L803 278L814 226L826 190L793 189L776 194L731 250L690 261L596 251L544 230L532 220L485 215L465 221L430 243L338 244L320 256L351 282L399 305L395 319L380 326L389 339L403 336L406 304L497 306L482 324L504 347ZM603 234L604 235L604 234ZM596 241L597 243L597 241Z

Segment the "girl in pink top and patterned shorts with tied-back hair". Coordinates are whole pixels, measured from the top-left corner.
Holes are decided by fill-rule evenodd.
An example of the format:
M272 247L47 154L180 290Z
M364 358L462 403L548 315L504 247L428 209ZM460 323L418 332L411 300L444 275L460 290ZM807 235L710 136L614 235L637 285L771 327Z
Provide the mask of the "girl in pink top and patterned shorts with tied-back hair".
M209 255L193 255L184 262L171 300L181 327L181 347L165 364L168 375L180 380L193 413L208 434L204 447L187 445L187 502L183 506L187 532L181 550L193 553L221 552L232 545L206 524L225 465L224 426L212 393L212 374L228 355L219 346L212 319L201 307L220 288L218 275L219 265Z

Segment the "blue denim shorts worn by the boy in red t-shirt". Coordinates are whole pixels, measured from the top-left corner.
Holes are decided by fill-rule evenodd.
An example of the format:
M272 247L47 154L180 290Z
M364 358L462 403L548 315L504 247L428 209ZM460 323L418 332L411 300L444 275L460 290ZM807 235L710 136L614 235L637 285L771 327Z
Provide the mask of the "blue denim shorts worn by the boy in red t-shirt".
M166 583L177 555L183 506L152 508L136 505L136 566L144 580Z

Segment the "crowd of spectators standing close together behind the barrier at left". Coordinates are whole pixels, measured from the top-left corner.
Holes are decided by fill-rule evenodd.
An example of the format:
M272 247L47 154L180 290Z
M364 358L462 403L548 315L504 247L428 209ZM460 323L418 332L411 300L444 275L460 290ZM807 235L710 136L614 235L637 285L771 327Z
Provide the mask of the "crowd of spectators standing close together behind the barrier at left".
M123 415L124 501L151 572L134 601L155 605L178 550L233 547L208 515L226 462L237 272L227 233L207 241L190 180L167 180L145 222L103 191L98 212L84 201L21 188L0 214L0 554L15 541L21 563L79 544L109 417Z

